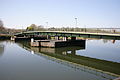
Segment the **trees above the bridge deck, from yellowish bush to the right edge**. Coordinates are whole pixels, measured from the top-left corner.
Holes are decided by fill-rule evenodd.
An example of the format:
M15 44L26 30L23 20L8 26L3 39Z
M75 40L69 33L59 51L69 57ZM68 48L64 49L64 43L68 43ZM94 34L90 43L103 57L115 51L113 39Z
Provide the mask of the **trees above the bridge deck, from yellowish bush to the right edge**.
M118 31L117 31L118 30ZM40 25L31 24L25 31L74 31L74 32L93 32L93 33L120 33L120 29L112 28L79 28L79 27L50 27L45 28Z

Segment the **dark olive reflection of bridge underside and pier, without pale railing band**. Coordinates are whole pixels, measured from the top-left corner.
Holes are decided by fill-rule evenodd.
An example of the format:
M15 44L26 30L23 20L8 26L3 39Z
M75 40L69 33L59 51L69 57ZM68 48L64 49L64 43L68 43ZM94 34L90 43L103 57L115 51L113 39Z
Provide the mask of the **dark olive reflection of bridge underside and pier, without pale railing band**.
M88 67L92 67L95 69L120 75L119 63L77 55L76 51L84 50L85 45L80 47L74 46L74 47L63 47L63 48L38 48L38 47L30 47L29 45L26 44L28 43L20 43L19 45L31 51L32 54L37 54L40 56L44 54L60 60L65 60L68 62L77 63L80 65L85 65Z

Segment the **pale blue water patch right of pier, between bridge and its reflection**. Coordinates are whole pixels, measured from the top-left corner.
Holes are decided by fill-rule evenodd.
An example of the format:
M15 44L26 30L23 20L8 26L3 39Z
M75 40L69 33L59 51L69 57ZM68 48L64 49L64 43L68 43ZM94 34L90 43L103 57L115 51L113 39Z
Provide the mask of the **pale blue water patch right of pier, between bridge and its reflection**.
M88 40L76 54L120 63L120 40Z

